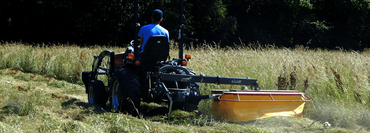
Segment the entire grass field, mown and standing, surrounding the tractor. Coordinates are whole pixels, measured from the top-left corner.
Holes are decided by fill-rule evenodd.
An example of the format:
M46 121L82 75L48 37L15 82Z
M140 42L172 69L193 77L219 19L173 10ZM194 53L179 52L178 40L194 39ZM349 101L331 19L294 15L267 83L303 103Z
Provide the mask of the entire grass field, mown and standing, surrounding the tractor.
M238 45L238 44L237 44ZM270 117L250 122L216 120L211 100L198 112L166 104L142 103L140 116L114 113L87 101L82 71L91 71L94 55L125 47L73 44L0 43L0 132L228 132L366 133L370 132L370 50L292 49L260 44L219 48L202 44L187 68L208 76L251 77L262 90L298 90L313 99L303 117ZM171 58L178 58L171 41ZM100 77L104 80L104 77ZM200 84L202 94L240 86ZM107 104L108 105L108 104ZM328 122L332 127L324 127Z

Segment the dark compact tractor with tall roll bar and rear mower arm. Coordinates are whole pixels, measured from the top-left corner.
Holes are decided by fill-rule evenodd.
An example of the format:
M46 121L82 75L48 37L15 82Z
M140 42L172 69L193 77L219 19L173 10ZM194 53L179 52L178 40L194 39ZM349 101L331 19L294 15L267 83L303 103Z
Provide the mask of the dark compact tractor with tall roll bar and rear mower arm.
M135 34L138 34L138 0L135 1ZM259 90L257 79L230 78L197 75L185 68L191 55L183 58L184 4L181 0L180 42L178 59L169 56L169 42L163 35L151 36L145 44L142 56L138 56L138 38L131 41L133 53L105 50L94 56L91 71L82 72L82 80L88 94L88 102L104 107L109 100L112 110L132 113L140 102L168 103L172 108L192 112L198 109L202 99L221 94L201 95L199 83L233 84L252 86ZM107 76L107 84L98 75Z

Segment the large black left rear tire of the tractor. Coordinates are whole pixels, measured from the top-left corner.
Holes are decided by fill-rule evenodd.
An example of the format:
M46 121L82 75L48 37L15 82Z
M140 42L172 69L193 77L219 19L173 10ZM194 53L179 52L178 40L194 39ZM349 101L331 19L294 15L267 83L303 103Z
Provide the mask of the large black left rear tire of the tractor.
M113 111L137 114L140 107L139 77L129 69L117 70L110 85L110 106Z

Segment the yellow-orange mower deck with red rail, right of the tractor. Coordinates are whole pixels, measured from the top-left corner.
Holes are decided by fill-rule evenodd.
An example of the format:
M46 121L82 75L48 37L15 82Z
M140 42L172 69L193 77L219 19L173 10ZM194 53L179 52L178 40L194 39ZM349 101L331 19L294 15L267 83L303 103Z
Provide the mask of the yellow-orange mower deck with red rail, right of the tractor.
M302 117L304 93L284 90L212 90L222 94L213 99L212 113L217 119L245 122L272 116Z

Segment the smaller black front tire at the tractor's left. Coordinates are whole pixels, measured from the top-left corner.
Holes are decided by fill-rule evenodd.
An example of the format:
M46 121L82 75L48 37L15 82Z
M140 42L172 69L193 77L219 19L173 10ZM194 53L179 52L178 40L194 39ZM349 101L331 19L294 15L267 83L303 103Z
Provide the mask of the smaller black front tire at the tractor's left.
M100 107L105 107L109 96L101 80L94 80L89 83L87 98L90 104L97 104Z

